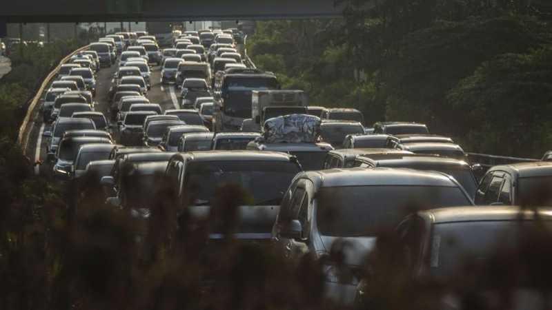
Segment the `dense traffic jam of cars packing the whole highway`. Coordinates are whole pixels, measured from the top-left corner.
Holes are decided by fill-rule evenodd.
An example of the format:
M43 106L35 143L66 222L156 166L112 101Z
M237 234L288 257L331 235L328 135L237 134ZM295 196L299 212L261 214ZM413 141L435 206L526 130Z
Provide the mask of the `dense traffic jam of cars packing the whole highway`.
M520 216L526 225L552 220L551 154L482 167L422 123L366 125L359 110L283 90L248 59L237 30L173 34L162 46L147 32L108 34L59 67L40 107L42 174L75 185L75 196L93 176L106 205L146 221L161 184L198 218L221 188L239 188L233 238L290 259L351 245L351 277L332 262L324 268L326 297L343 304L362 299L356 271L380 231L404 238L417 276L446 277L466 259L490 259L505 235L514 240ZM99 81L103 70L114 72L108 81ZM159 87L175 106L153 98ZM441 241L451 238L462 249Z

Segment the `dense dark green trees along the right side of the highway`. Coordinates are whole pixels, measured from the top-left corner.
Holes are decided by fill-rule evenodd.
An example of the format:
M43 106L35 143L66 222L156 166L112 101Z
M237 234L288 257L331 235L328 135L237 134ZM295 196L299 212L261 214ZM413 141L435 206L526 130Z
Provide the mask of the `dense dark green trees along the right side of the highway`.
M498 155L540 157L551 147L550 123L523 118L546 115L546 81L512 74L522 68L504 63L534 59L551 46L546 1L400 0L369 9L364 0L337 2L341 20L258 22L248 39L253 61L277 73L284 87L306 90L313 105L362 110L366 125L419 121L466 150ZM483 69L497 63L504 70ZM546 66L534 60L524 68ZM495 81L493 90L480 81ZM520 86L533 83L540 87ZM508 100L491 105L490 92Z

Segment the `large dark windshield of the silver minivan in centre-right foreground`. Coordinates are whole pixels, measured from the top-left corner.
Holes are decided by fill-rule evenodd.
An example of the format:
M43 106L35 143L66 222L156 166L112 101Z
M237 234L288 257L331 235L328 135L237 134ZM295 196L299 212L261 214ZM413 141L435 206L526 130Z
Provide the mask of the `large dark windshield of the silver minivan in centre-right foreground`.
M371 185L322 187L317 223L322 235L375 236L413 209L471 205L459 187Z

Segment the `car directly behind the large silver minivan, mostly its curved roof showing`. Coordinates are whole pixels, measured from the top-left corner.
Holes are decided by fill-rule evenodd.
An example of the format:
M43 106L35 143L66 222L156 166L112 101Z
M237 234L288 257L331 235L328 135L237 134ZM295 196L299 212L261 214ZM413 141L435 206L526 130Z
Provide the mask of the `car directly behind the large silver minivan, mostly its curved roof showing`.
M426 156L424 154L394 154L393 156L357 156L353 167L391 167L428 170L449 174L455 178L469 194L475 198L477 180L473 175L472 167L465 161L440 156Z

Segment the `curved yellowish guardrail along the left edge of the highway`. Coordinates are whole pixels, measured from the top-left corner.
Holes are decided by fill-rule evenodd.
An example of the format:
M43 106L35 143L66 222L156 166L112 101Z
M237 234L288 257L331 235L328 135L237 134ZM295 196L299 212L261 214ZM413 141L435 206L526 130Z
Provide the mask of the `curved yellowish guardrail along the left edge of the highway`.
M27 145L29 143L29 136L30 136L30 133L32 132L32 126L29 127L29 123L31 125L34 124L34 122L32 122L32 116L34 115L34 112L35 112L35 110L37 109L37 107L39 105L38 103L40 102L40 99L42 97L42 94L43 94L44 90L46 90L46 87L48 87L48 85L50 85L50 82L56 76L56 74L59 71L59 68L61 67L61 65L63 65L63 63L66 63L67 61L69 61L69 59L73 55L77 54L78 52L81 52L82 50L86 50L86 48L88 48L88 45L85 45L82 48L79 48L79 49L71 52L70 54L65 56L63 59L61 59L61 61L59 61L59 64L57 65L57 67L54 68L54 70L52 70L52 72L50 72L50 74L48 74L48 76L46 76L46 79L44 79L44 81L42 81L39 89L37 90L37 93L32 97L32 99L30 99L30 102L28 103L27 113L25 114L25 118L23 118L23 122L21 123L21 126L19 126L19 134L17 135L17 144L21 145L21 149L23 149L23 154L26 154L26 152L27 152Z

